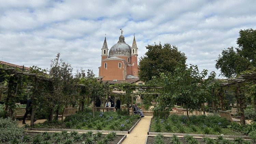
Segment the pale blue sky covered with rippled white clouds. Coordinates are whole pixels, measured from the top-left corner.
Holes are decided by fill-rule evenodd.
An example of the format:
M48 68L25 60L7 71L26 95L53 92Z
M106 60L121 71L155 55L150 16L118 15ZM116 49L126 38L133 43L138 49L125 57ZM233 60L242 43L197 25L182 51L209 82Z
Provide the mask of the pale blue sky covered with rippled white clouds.
M256 29L255 0L0 0L0 60L49 68L57 53L76 71L98 75L106 34L108 48L120 28L139 57L154 42L176 45L187 64L215 69L222 49L235 46L240 29Z

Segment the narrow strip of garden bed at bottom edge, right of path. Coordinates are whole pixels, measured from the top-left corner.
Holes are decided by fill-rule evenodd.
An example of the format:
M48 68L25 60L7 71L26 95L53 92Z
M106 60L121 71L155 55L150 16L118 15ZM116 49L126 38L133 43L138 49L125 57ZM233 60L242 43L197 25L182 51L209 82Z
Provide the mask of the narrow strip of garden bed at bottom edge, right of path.
M145 144L214 144L214 143L228 143L228 144L256 144L251 140L245 140L243 138L235 139L225 139L223 136L218 136L216 139L211 139L209 137L195 138L193 136L185 135L184 137L179 137L177 135L173 136L163 136L163 135L148 135Z

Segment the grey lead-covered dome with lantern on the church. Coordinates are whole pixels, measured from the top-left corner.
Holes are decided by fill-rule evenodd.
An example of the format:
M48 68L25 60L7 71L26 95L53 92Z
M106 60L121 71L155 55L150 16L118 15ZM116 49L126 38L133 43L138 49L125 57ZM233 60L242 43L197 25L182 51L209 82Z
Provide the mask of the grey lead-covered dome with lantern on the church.
M120 35L117 44L110 48L109 57L113 56L131 56L131 46L125 43L124 35Z

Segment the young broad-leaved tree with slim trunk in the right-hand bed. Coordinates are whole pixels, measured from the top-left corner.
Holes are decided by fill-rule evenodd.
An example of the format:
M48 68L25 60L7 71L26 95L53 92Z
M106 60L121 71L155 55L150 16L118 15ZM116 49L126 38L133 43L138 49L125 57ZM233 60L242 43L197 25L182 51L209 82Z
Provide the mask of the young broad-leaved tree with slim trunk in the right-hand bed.
M158 97L161 109L170 110L173 104L183 103L186 106L189 120L188 108L192 110L201 107L199 104L202 99L200 89L206 75L207 70L200 73L198 67L193 65L184 69L181 62L173 73L161 73L160 81L163 83L163 93Z

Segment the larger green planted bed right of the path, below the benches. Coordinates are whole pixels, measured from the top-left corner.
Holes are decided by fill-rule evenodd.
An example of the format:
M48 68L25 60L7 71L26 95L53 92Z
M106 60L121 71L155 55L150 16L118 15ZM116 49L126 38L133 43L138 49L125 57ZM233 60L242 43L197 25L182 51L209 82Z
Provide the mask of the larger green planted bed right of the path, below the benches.
M232 126L233 124L228 120L216 115L190 116L190 121L187 122L186 116L173 114L166 119L152 118L148 134L162 133L164 135L177 134L180 136L190 134L200 137L207 135L211 138L224 135L224 138L249 138L244 132L233 130Z

